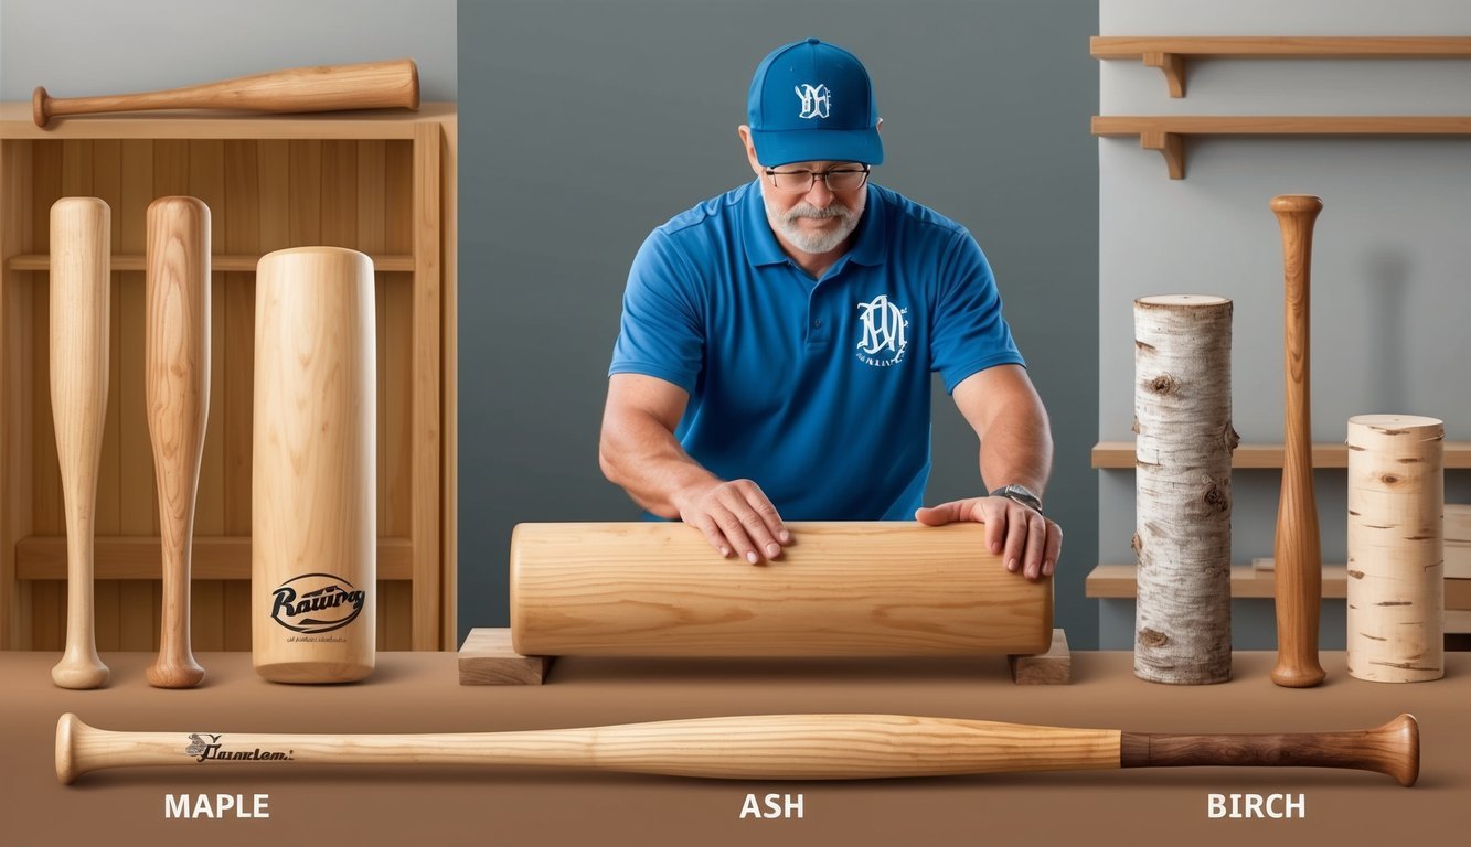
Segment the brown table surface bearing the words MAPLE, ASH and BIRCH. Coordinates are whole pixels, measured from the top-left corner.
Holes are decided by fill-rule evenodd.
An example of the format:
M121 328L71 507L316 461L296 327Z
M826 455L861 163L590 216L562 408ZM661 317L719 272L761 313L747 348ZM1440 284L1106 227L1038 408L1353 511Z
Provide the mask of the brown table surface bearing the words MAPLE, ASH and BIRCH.
M202 653L190 691L150 688L152 654L106 653L112 684L63 691L54 653L0 653L0 844L1464 844L1471 835L1471 654L1439 682L1347 676L1277 688L1274 656L1237 653L1222 685L1133 675L1128 653L1075 653L1074 682L1018 687L977 660L563 659L541 687L462 687L452 653L385 653L356 685L275 685L243 653ZM59 785L56 719L187 732L459 732L713 715L855 712L983 718L1140 732L1294 732L1377 726L1412 712L1421 778L1356 771L1189 768L861 782L746 782L455 766L291 772L118 769ZM269 819L168 821L166 794L269 794ZM749 793L803 796L800 821L740 819ZM1209 793L1303 794L1303 819L1208 819Z

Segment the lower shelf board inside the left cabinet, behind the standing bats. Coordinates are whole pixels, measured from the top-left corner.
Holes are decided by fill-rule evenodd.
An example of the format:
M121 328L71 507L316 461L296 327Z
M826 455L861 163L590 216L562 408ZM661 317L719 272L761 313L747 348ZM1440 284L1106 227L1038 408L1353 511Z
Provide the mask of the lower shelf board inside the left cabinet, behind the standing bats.
M99 537L94 579L157 579L163 548L157 537ZM247 535L194 537L190 563L194 579L250 579ZM15 546L16 579L66 579L66 538L29 535ZM412 579L413 544L407 538L378 540L378 579Z

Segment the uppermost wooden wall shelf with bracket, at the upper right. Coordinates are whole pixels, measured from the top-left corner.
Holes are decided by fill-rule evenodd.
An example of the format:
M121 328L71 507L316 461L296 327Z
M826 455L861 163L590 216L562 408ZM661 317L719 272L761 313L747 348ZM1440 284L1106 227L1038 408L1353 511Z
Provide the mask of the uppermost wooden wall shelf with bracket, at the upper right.
M1186 96L1186 60L1193 59L1471 59L1468 37L1225 37L1136 38L1096 35L1094 59L1140 59L1165 74L1171 97Z

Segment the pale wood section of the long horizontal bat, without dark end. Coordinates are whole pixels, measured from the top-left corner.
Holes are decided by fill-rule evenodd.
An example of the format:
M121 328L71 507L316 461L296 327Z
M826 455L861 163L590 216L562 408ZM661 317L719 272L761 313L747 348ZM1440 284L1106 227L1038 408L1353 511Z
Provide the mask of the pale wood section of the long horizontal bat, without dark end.
M104 768L199 765L178 732L109 732L63 715L56 776ZM216 735L209 728L210 735ZM619 726L425 735L219 734L215 766L250 773L294 765L563 766L713 779L883 779L1119 766L1116 729L1072 729L905 715L756 715ZM235 762L234 751L291 751ZM257 771L256 768L262 768Z

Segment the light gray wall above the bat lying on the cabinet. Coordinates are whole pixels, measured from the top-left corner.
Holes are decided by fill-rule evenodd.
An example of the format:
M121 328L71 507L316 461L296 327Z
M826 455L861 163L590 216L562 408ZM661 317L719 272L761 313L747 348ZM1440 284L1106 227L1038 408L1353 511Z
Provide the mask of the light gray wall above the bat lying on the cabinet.
M0 99L149 91L302 65L412 57L455 100L455 0L3 0Z

